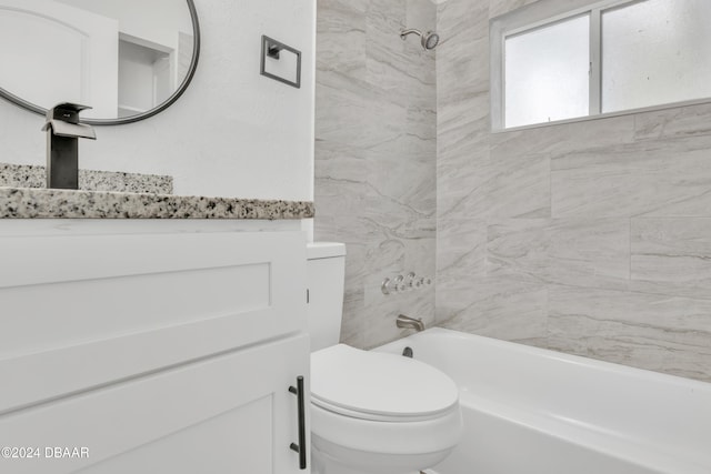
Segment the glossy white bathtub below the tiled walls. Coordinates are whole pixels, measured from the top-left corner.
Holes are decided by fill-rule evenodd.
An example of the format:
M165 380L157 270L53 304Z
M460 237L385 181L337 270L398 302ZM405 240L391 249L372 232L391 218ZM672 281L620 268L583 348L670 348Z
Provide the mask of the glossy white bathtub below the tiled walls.
M377 351L405 346L460 387L439 474L711 473L711 384L443 329Z

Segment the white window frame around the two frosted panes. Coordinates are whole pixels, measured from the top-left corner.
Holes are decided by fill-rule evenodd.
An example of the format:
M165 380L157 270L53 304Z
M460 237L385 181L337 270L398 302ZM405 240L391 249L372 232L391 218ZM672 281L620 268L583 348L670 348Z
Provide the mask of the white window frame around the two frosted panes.
M489 28L491 44L491 131L508 132L511 130L580 122L711 102L711 98L700 98L690 101L662 103L640 109L627 109L602 113L602 13L604 11L624 8L642 1L644 0L542 0L491 19ZM507 128L504 58L507 38L531 32L537 29L550 27L552 24L587 14L590 16L590 110L588 115Z

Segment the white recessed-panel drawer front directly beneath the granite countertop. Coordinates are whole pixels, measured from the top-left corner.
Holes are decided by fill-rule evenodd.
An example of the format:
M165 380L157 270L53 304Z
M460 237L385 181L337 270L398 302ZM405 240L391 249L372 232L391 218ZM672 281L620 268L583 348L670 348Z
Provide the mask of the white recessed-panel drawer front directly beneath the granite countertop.
M0 236L0 415L297 334L304 275L301 232Z

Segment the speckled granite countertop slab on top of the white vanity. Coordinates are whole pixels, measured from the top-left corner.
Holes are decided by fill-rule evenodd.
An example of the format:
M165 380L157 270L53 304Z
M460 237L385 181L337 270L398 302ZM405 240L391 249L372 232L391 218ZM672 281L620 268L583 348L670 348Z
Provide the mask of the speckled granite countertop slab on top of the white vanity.
M309 201L0 188L0 219L309 219Z

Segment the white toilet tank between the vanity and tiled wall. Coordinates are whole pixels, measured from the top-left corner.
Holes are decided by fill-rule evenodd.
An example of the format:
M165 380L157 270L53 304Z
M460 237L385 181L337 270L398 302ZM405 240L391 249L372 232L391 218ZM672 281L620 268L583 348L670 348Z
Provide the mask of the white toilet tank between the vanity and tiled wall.
M309 335L311 352L336 345L341 335L346 245L313 242L307 245Z

